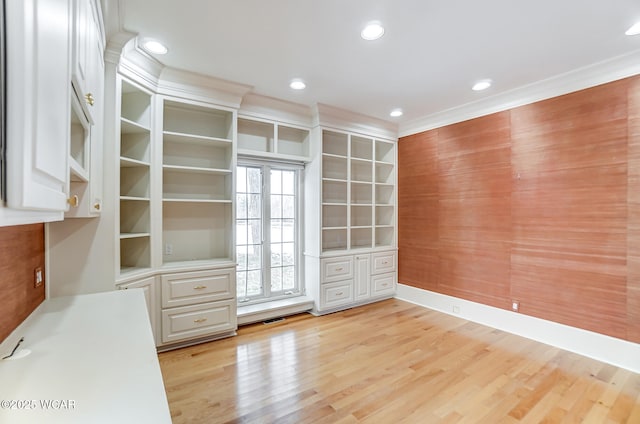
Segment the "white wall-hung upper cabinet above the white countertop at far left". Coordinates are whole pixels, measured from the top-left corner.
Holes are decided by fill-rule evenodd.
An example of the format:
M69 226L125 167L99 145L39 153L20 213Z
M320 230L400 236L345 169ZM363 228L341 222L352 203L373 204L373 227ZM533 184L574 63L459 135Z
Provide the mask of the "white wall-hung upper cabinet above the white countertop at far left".
M99 212L102 28L95 0L6 2L7 203L0 225Z

